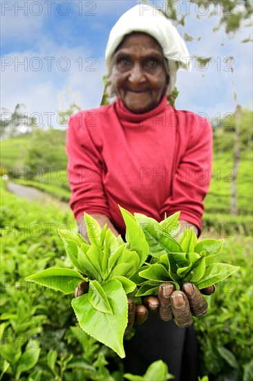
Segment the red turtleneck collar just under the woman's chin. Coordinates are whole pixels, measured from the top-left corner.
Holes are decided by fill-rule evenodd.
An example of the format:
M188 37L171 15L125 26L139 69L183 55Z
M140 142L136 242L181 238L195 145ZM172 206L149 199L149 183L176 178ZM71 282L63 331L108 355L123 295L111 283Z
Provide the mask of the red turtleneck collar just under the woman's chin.
M118 97L115 102L115 111L118 114L120 122L124 127L138 127L143 125L142 122L149 120L153 116L165 112L167 108L167 98L163 96L160 103L151 109L149 112L144 112L142 114L134 114L127 107L124 106L122 100Z

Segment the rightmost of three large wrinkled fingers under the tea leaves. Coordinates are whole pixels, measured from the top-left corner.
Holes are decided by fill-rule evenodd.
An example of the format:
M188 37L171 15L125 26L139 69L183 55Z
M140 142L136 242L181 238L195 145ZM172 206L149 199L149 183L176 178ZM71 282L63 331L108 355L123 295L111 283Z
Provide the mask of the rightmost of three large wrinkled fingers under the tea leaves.
M207 312L207 301L203 298L196 285L185 283L182 290L187 296L192 314L196 317L203 316Z

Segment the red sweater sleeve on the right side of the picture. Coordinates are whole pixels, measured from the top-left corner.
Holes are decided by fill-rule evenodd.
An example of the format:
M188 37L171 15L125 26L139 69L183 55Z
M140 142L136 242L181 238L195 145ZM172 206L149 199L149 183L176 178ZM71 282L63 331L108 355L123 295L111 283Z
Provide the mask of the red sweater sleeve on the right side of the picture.
M179 150L180 139L185 139L185 135L185 132L181 132L181 137L179 135ZM179 164L173 168L172 191L162 206L162 218L165 212L171 215L180 211L180 220L196 225L201 231L203 200L209 190L211 177L212 125L205 118L196 118L194 114L185 152L182 153Z

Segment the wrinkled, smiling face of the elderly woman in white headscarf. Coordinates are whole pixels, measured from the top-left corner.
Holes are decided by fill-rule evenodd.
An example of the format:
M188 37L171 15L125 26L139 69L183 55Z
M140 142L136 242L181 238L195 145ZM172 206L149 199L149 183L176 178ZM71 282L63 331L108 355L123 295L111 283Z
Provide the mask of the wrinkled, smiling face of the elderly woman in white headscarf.
M113 56L113 87L131 112L148 112L160 103L168 84L160 44L146 33L124 37Z

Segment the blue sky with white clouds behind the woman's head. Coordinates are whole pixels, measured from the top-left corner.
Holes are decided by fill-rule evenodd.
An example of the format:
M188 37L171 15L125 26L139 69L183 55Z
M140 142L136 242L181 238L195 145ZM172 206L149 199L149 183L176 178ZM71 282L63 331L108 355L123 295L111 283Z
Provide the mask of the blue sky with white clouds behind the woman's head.
M37 116L38 125L53 123L57 128L64 126L57 121L56 109L71 101L82 109L99 107L110 30L123 12L139 2L2 0L1 107L12 111L24 103L28 116ZM165 1L153 3L166 6ZM176 3L178 12L189 13L185 28L178 28L180 35L196 37L187 42L190 55L212 56L205 71L198 69L195 59L191 72L179 71L176 107L208 118L233 112L231 61L226 61L230 56L238 102L252 107L252 48L241 43L250 28L241 27L234 38L227 37L223 28L214 33L219 16L203 16L205 9L194 4L186 8L186 1Z

